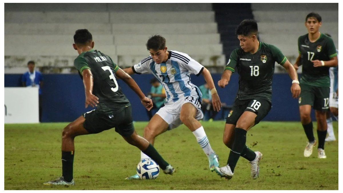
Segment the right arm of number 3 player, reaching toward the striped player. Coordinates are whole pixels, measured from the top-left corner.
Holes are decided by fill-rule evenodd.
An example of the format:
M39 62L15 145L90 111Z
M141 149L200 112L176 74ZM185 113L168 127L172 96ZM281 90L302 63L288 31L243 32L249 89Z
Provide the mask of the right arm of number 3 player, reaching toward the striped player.
M128 68L126 68L128 69ZM131 68L130 68L131 69ZM132 71L132 69L131 69ZM133 73L133 71L132 71ZM147 98L142 90L138 87L137 83L131 78L128 73L126 73L124 70L120 69L116 72L116 76L119 77L121 80L123 80L140 98L142 104L144 107L150 111L153 107L152 100Z

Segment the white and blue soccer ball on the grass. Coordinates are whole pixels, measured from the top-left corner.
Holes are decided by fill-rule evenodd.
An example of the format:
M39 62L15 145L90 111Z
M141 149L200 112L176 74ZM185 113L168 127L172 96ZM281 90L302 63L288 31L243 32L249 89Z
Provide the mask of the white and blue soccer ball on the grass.
M159 166L152 159L143 159L137 165L137 174L142 180L155 179L159 174Z

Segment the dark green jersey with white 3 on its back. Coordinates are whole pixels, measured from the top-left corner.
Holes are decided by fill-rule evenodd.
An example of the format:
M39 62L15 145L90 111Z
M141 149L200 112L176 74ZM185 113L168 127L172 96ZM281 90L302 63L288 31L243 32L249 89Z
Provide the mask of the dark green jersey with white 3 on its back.
M81 53L74 66L82 75L84 69L90 69L93 75L93 94L99 98L97 110L104 114L115 114L126 106L129 100L121 91L115 77L119 67L112 59L98 50Z

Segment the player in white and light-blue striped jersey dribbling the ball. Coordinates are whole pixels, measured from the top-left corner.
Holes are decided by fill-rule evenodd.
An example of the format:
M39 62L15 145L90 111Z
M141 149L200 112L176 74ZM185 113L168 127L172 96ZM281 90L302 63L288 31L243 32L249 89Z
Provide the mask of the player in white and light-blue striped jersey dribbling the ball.
M201 111L202 94L190 78L191 73L204 76L211 90L213 108L219 111L221 102L209 70L185 53L167 50L166 40L160 35L150 37L146 48L151 56L124 71L129 75L152 73L162 83L167 98L165 106L158 110L145 127L143 137L154 144L156 136L183 123L196 137L209 159L210 170L213 171L214 167L219 166L218 156L211 148L204 128L198 121L204 116ZM141 152L141 159L146 158L148 156ZM139 179L139 177L136 174L127 179Z

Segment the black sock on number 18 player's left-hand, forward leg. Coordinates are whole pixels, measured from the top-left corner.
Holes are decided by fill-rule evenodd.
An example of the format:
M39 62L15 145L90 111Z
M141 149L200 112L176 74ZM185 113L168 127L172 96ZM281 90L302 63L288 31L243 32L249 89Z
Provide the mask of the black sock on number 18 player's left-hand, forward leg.
M235 141L227 159L227 164L230 166L231 171L234 172L237 161L247 140L247 131L241 128L235 128Z

